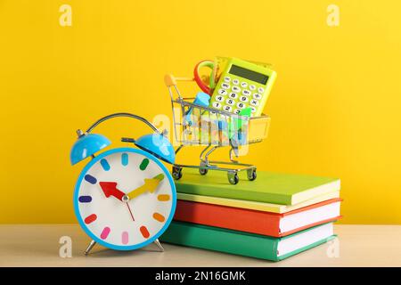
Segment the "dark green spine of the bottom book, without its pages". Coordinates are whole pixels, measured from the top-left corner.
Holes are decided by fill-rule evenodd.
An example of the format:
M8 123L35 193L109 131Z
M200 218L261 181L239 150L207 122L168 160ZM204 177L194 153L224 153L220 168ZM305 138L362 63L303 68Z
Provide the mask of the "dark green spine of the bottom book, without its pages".
M193 248L204 248L240 256L277 261L279 239L233 232L202 225L172 222L160 240Z

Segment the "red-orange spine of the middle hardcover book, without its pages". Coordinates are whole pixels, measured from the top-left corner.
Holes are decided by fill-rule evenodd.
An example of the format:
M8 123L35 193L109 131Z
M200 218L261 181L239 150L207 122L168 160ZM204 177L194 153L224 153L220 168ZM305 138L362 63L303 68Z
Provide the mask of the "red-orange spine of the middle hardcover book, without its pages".
M176 215L174 216L176 221L273 237L280 236L280 218L279 214L185 200L177 200Z

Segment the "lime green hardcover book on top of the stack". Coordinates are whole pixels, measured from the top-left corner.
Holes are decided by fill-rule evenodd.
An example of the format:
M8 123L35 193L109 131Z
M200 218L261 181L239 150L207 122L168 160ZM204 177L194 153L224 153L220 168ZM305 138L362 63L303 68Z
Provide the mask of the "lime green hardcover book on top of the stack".
M242 175L242 174L241 174ZM258 178L249 181L246 173L239 183L228 183L223 171L200 175L195 169L184 169L176 181L176 191L203 196L243 199L282 205L294 205L319 195L340 190L340 179L313 175L291 175L258 171Z

